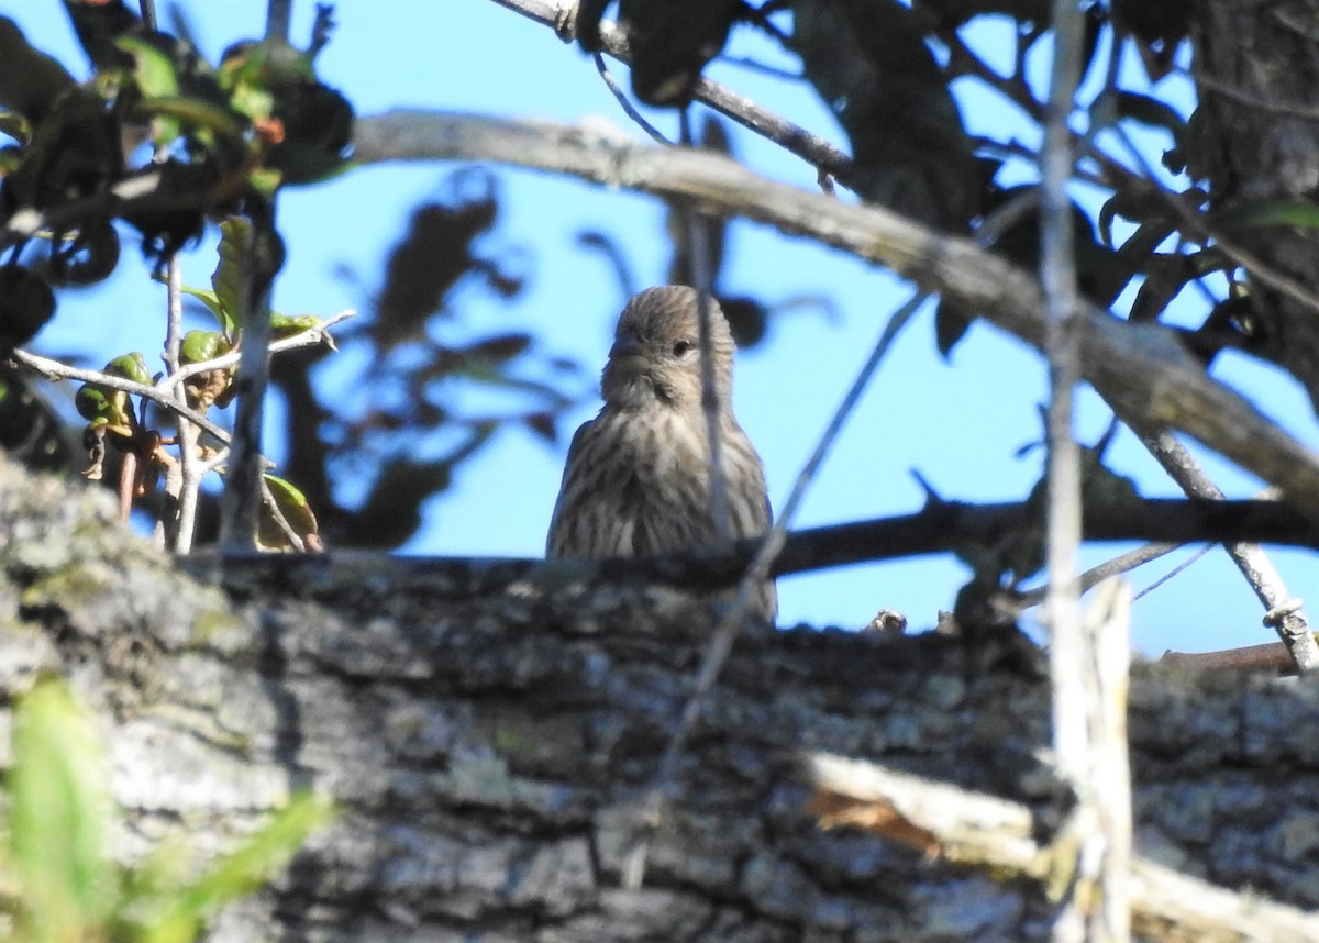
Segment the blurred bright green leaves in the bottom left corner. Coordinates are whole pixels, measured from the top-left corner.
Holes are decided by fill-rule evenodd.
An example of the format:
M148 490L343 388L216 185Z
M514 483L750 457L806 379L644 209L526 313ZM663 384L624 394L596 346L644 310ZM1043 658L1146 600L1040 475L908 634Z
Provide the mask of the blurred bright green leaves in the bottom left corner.
M5 778L8 848L0 910L16 943L189 943L230 902L259 890L332 818L327 801L295 794L220 857L195 861L182 837L136 865L111 860L117 811L92 717L58 679L15 707Z

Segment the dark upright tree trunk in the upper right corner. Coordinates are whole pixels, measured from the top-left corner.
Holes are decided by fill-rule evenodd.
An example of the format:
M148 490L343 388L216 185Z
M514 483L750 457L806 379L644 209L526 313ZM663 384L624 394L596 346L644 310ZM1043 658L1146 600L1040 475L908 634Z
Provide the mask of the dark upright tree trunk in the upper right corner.
M1211 181L1215 208L1319 197L1319 3L1202 1L1192 16L1195 65L1206 75L1192 171ZM1232 239L1319 294L1319 232L1274 226ZM1306 385L1319 409L1319 313L1256 282L1258 352Z

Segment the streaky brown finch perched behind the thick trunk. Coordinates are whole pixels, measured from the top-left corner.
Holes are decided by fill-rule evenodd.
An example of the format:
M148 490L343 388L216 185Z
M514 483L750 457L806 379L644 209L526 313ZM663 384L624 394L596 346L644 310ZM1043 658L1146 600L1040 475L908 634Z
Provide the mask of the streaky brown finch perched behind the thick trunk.
M666 285L623 309L600 379L604 408L572 437L546 555L646 557L719 543L696 305L695 289ZM733 339L714 299L710 315L729 537L754 537L770 526L765 471L733 418ZM752 611L772 623L777 609L766 582Z

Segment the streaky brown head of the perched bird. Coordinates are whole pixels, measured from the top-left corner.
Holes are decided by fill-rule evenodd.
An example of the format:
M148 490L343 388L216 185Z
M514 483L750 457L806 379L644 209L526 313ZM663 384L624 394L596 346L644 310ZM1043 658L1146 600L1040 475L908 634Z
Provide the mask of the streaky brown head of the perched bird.
M710 299L710 348L715 388L727 408L732 392L733 338L719 303ZM600 392L611 406L660 402L700 408L700 320L696 290L686 285L646 289L632 298L613 335Z

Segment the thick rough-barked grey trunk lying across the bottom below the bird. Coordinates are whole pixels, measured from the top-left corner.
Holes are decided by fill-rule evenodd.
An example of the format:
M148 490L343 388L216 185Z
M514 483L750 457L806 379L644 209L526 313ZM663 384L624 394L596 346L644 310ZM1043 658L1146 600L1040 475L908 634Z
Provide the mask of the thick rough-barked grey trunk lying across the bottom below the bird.
M795 772L827 749L1026 798L1047 823L1049 696L1020 640L743 640L645 888L624 892L703 607L570 563L526 579L384 557L179 566L111 516L0 459L0 691L74 679L111 746L123 853L175 830L223 848L299 783L342 803L216 940L1045 936L1030 886L819 831ZM1140 849L1319 906L1316 724L1310 683L1137 670Z

